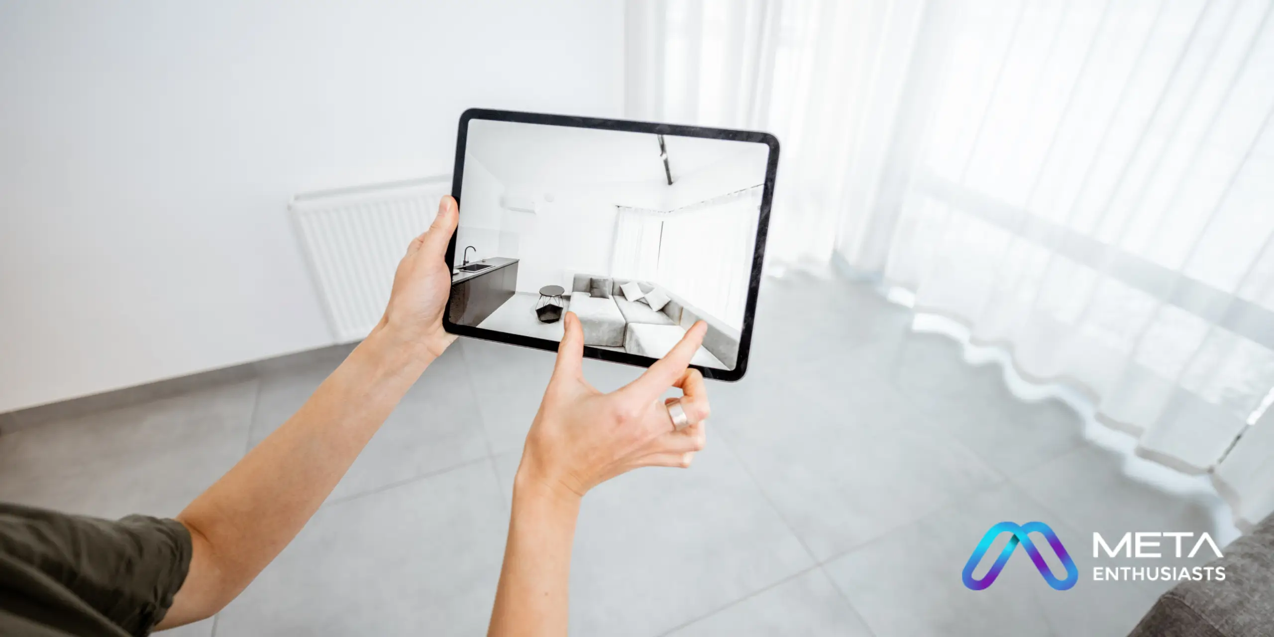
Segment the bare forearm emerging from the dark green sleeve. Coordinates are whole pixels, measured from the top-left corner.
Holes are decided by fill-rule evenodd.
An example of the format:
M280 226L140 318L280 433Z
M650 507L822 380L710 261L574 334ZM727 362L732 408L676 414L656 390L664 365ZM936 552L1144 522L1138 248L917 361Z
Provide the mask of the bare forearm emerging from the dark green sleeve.
M234 599L318 510L432 361L377 329L306 404L177 517L195 552L163 626Z

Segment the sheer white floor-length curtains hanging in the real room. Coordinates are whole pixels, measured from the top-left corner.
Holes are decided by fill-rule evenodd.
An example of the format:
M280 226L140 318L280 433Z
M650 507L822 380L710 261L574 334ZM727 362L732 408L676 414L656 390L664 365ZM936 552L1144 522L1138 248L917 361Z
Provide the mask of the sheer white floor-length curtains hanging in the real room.
M1274 511L1270 0L628 5L628 115L782 143L771 264L838 261Z

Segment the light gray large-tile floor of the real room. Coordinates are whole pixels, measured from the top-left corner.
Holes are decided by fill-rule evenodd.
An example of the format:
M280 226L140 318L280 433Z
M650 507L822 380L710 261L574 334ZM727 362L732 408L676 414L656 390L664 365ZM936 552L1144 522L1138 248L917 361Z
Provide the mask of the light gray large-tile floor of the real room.
M585 499L572 632L1126 633L1162 582L1057 592L1018 557L972 592L963 562L990 525L1043 520L1083 573L1093 530L1218 533L1215 502L1130 476L1069 406L1018 400L999 367L911 322L862 284L767 279L750 371L711 383L694 468L641 470ZM175 515L304 401L343 350L327 354L0 436L0 499ZM279 559L217 618L168 634L483 633L552 363L462 339ZM638 373L586 372L601 389Z

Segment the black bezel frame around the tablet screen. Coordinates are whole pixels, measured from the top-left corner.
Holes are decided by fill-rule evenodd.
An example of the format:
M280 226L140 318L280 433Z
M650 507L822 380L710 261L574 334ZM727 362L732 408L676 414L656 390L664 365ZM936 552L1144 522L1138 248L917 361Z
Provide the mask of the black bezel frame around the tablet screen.
M600 117L576 117L568 115L529 113L519 111L496 111L488 108L470 108L460 115L460 126L456 132L456 166L451 178L451 196L456 199L460 210L460 186L464 182L465 169L465 140L469 132L470 120L494 120L522 124L547 124L552 126L573 126L580 129L620 130L628 132L651 132L662 135L682 135L688 138L727 139L733 141L754 141L769 147L769 158L766 164L766 183L761 197L761 217L757 219L757 243L752 255L752 274L748 280L748 301L743 312L743 330L739 333L739 353L735 358L734 369L719 369L692 364L691 367L703 373L705 378L719 381L738 381L748 371L748 355L752 350L752 326L757 311L757 294L761 290L761 269L766 255L766 236L769 229L769 203L775 194L775 173L778 171L778 139L768 132L710 129L703 126L683 126L676 124L654 124L633 120L606 120ZM455 271L456 262L456 234L452 233L451 242L447 243L447 273ZM451 299L447 299L447 308L442 313L443 329L451 334L473 336L498 343L510 343L535 349L557 352L559 343L550 339L538 339L521 334L484 330L482 327L457 325L451 321ZM585 345L583 355L599 361L610 361L636 367L650 367L656 359L629 354L627 352L613 352Z

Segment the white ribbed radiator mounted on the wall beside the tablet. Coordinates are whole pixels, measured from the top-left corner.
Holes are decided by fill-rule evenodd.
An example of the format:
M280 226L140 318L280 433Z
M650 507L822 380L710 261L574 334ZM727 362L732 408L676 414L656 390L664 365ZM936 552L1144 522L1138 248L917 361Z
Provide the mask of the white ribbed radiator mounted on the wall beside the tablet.
M429 228L451 176L297 195L288 206L338 343L385 312L408 243Z

